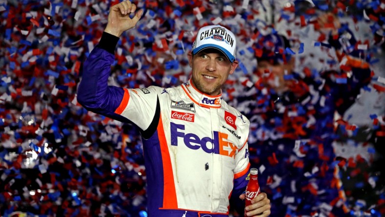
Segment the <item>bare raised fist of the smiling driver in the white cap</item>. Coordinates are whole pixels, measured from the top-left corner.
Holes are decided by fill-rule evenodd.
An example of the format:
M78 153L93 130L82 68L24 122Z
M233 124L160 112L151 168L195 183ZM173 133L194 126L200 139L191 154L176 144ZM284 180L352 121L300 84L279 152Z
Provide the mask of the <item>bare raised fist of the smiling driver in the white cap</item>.
M131 19L130 13L134 13L136 5L128 1L120 2L111 7L108 14L108 23L105 32L120 37L122 33L136 25L139 19L142 17L143 9L136 12L135 16Z

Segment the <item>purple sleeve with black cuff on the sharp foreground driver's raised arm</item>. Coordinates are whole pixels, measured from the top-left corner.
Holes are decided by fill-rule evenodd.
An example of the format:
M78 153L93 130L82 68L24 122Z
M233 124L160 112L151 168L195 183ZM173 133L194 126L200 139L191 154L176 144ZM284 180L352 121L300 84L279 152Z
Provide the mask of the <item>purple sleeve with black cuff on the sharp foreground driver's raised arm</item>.
M118 41L118 37L103 33L100 43L91 51L83 65L83 77L78 87L77 100L89 111L128 122L127 118L114 112L122 102L123 88L107 84Z

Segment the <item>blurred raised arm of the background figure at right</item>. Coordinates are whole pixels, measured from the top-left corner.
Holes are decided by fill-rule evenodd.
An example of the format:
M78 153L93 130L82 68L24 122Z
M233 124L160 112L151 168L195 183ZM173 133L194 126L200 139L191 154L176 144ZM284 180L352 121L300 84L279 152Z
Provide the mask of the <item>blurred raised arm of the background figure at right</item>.
M356 100L361 88L371 80L371 70L367 61L368 45L359 43L348 24L340 23L339 19L330 13L322 15L319 20L320 28L332 26L328 43L336 50L340 71L325 71L323 76L335 96L337 111L342 115ZM327 24L326 24L327 23ZM333 25L330 25L333 23Z

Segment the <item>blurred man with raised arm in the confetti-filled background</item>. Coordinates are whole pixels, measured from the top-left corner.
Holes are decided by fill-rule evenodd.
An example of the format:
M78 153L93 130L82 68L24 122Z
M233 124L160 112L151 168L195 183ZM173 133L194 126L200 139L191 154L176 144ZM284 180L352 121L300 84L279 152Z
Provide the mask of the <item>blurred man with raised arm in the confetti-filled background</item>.
M353 104L371 73L347 26L330 14L321 16L318 24L322 28L330 20L336 29L323 45L336 49L340 71L296 72L289 42L278 34L262 36L254 45L261 51L256 52L258 79L251 79L257 93L245 115L255 124L250 161L263 168L259 182L273 195L272 216L349 215L332 146L338 138L334 114L342 115ZM340 130L353 130L339 123L344 124Z

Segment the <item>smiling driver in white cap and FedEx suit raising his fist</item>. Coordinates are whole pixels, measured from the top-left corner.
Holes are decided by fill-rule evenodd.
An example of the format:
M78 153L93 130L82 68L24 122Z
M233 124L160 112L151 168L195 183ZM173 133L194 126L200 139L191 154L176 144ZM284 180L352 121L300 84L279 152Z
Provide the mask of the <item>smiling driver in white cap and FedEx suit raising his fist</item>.
M102 39L84 64L78 101L86 109L141 129L150 217L224 217L229 198L244 199L249 171L249 121L221 97L221 87L238 65L235 36L215 25L202 27L188 54L192 78L174 88L107 86L119 36L133 28L135 4L111 7ZM261 193L248 216L270 215Z

